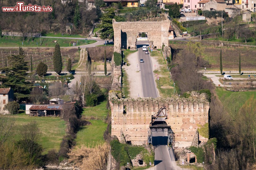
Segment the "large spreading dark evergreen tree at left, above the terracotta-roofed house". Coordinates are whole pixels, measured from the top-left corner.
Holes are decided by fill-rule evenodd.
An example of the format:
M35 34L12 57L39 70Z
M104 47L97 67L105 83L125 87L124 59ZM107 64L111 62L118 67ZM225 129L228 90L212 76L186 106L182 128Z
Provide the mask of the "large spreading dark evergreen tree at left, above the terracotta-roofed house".
M2 68L2 70L5 70L6 76L0 78L0 81L3 82L1 86L5 88L12 87L14 92L19 93L24 98L24 95L29 93L31 84L25 82L29 67L25 61L23 49L19 47L19 54L11 55L8 61L9 67ZM20 98L17 95L15 94L19 100Z

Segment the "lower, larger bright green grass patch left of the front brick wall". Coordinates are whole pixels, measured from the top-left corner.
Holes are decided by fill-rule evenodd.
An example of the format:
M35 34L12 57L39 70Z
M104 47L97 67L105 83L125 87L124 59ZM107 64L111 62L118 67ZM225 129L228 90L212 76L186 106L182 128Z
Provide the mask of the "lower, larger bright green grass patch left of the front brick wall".
M83 126L81 130L77 132L77 146L82 144L92 147L97 144L98 141L103 141L103 134L107 128L107 123L102 120L90 120L91 125Z

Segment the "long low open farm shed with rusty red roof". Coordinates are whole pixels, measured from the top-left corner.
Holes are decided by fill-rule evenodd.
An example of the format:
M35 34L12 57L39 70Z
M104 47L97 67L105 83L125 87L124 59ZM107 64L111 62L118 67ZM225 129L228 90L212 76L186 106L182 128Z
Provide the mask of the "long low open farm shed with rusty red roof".
M35 104L30 108L30 116L59 116L62 111L60 104Z

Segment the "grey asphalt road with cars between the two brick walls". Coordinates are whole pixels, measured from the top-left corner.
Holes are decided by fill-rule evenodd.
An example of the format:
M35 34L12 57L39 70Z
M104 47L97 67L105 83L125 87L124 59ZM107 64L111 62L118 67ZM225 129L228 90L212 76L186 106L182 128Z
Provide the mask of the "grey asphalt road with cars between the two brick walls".
M137 41L138 49L138 61L143 59L144 62L140 63L140 73L141 73L141 83L142 83L142 93L143 97L158 97L155 85L155 79L152 68L152 61L149 54L145 54L142 51L142 46L147 45L148 41Z

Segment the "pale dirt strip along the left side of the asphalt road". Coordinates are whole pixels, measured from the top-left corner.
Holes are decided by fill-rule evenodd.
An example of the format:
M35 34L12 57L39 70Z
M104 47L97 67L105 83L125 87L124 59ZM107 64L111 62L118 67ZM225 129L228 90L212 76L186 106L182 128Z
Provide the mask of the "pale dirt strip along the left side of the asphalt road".
M138 63L138 51L127 56L128 66L123 66L129 81L129 97L143 97L141 86L140 64ZM138 67L137 67L138 66ZM137 71L138 70L138 71Z

